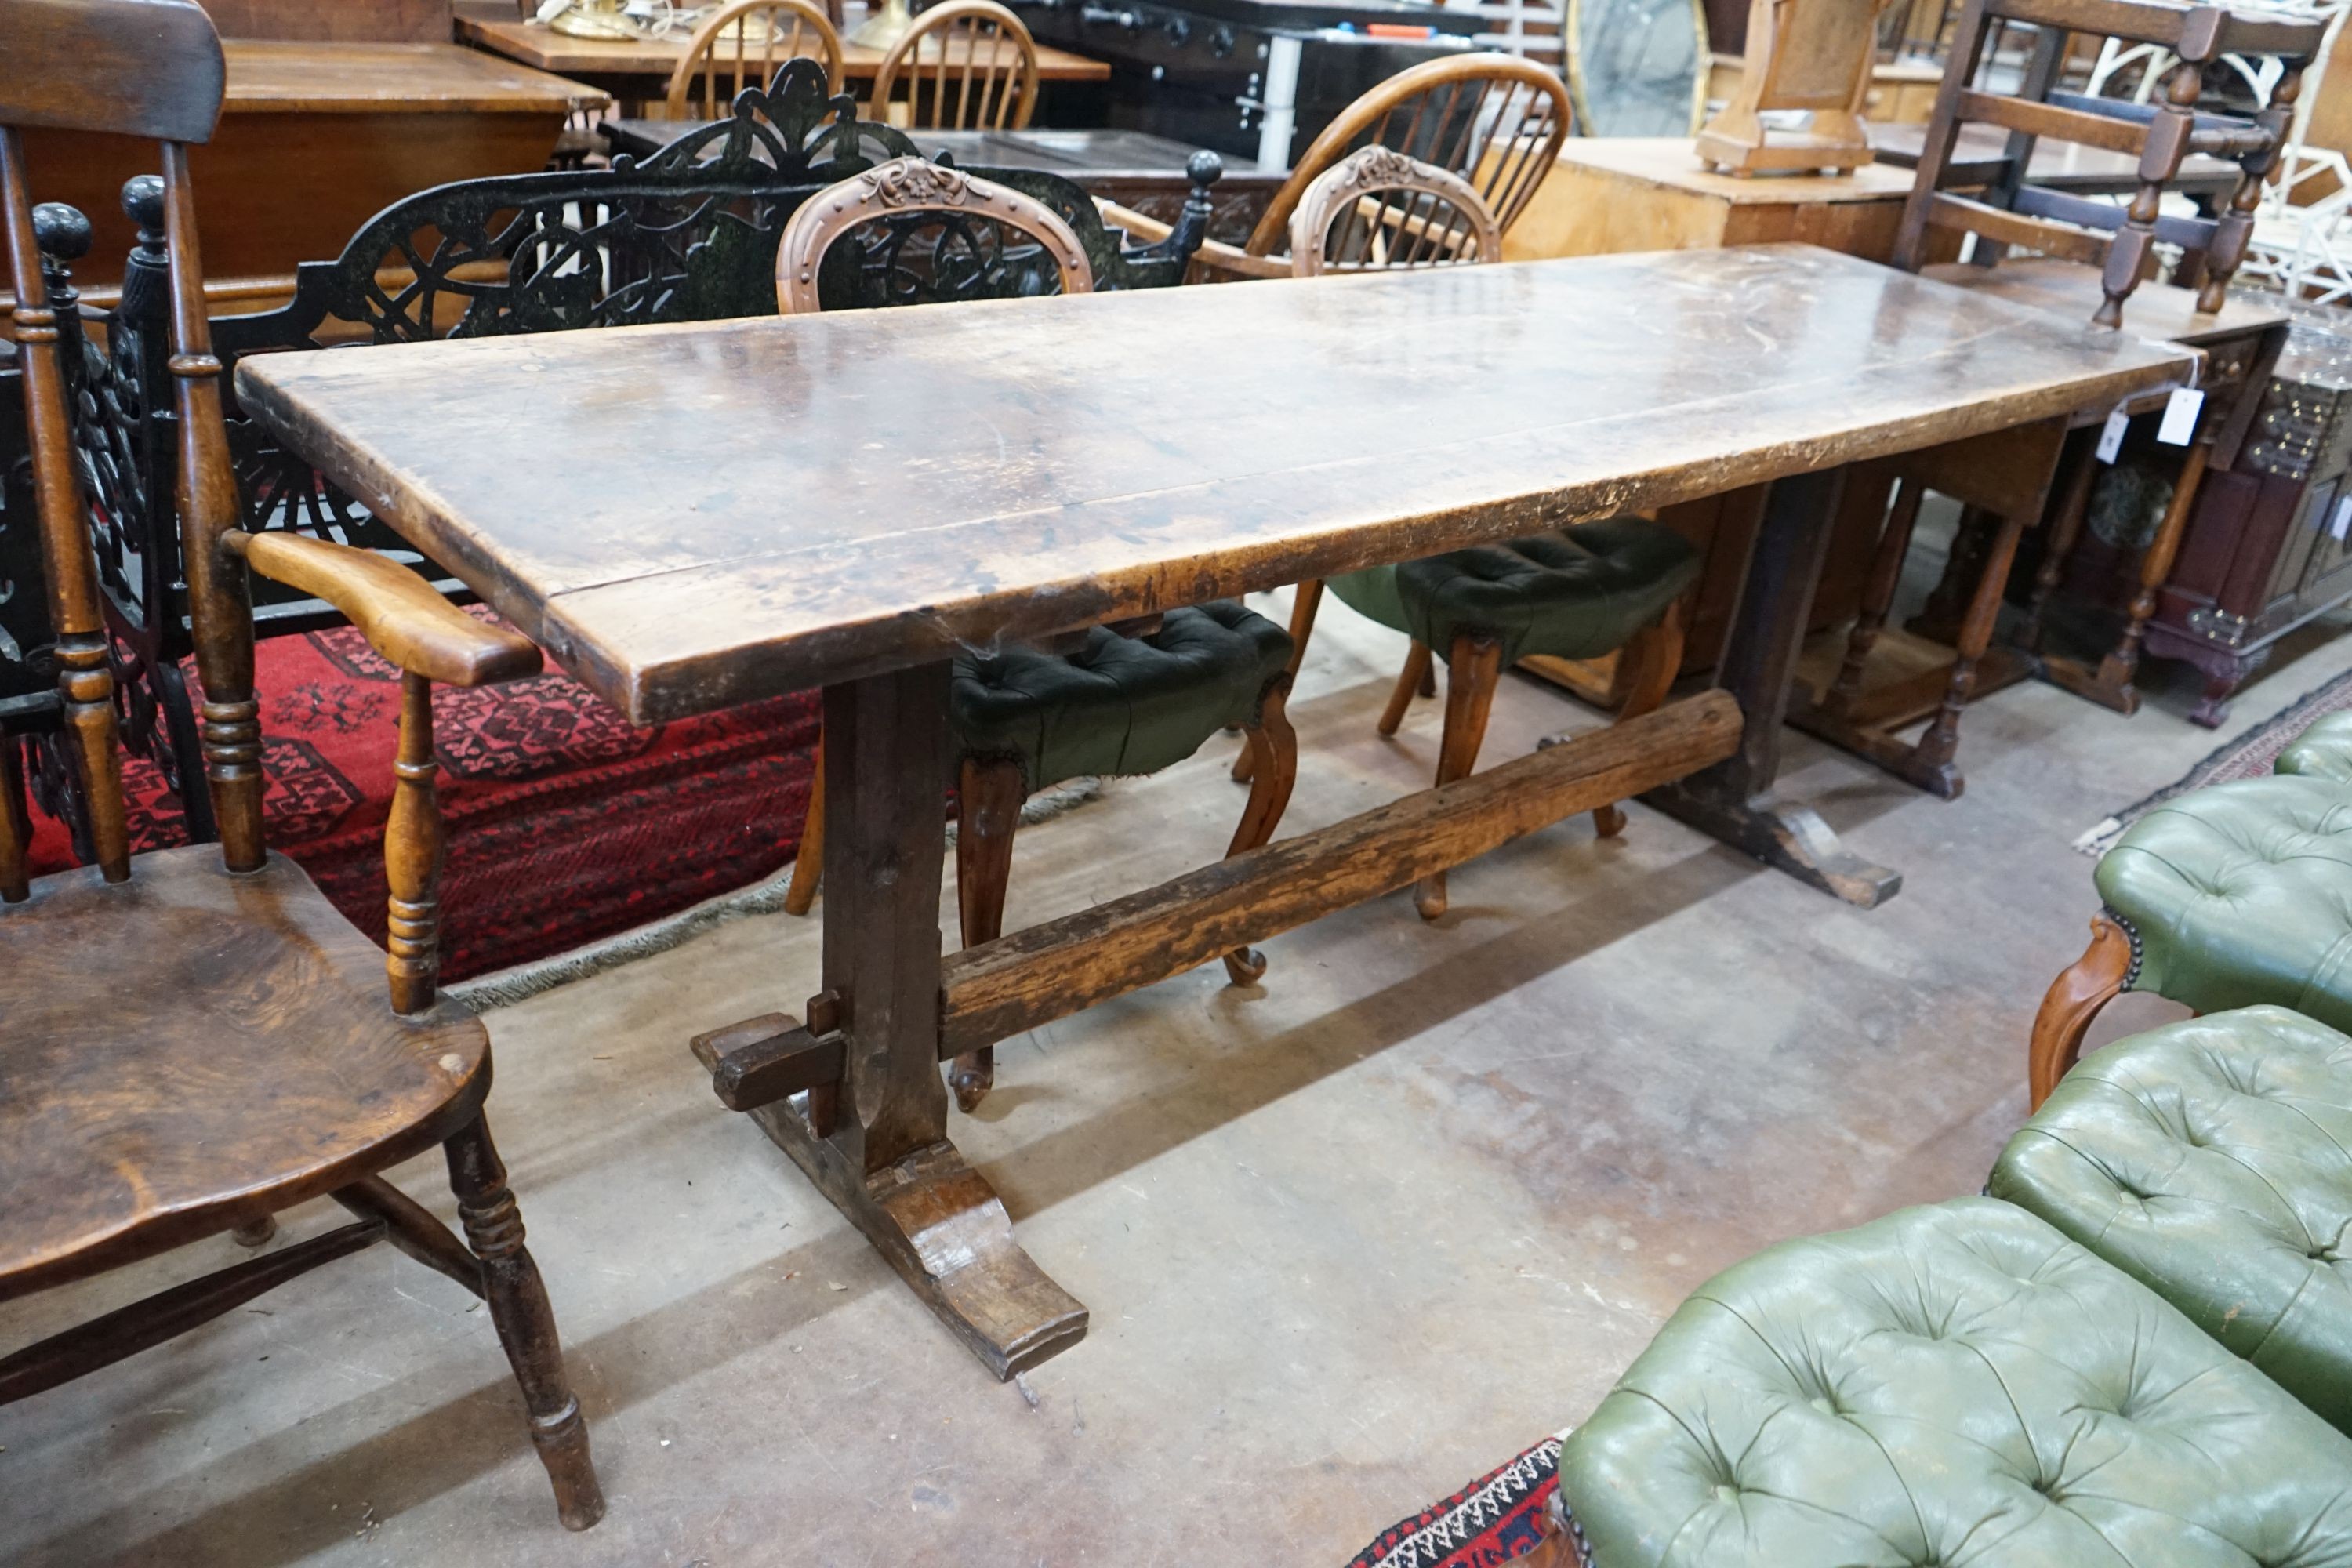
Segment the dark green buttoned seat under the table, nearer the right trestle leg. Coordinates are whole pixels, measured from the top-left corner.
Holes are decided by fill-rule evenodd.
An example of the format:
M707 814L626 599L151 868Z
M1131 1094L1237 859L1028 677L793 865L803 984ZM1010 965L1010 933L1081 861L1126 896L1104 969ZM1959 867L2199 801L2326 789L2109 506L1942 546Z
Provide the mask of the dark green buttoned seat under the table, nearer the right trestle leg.
M1411 632L1439 658L1461 635L1503 639L1503 663L1529 654L1597 658L1625 646L1698 576L1682 534L1639 517L1585 522L1508 545L1449 550L1402 567L1331 578L1350 609Z

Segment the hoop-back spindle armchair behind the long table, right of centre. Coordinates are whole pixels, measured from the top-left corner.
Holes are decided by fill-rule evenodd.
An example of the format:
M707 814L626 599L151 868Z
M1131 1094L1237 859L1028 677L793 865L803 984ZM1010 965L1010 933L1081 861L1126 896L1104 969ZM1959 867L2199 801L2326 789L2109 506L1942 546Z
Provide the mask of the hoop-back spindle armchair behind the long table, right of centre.
M1298 165L1265 205L1249 240L1240 247L1211 240L1200 247L1195 266L1209 277L1291 277L1284 252L1291 244L1291 216L1305 200L1308 186L1350 153L1371 146L1463 176L1486 202L1496 230L1510 233L1559 162L1569 122L1569 89L1545 66L1489 52L1423 61L1343 108L1298 155ZM1167 233L1167 223L1124 207L1105 212L1138 240ZM1383 237L1383 228L1362 223L1341 237L1352 247L1369 247ZM1331 256L1334 263L1364 259L1367 254L1352 249Z

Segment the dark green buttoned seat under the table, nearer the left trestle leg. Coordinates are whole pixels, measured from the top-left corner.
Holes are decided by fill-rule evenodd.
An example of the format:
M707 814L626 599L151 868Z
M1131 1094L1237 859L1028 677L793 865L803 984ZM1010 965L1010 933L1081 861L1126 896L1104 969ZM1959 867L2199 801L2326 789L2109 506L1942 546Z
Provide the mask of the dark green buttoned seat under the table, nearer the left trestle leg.
M957 745L1014 757L1030 790L1084 773L1157 773L1230 724L1256 724L1291 635L1230 599L1171 609L1150 637L1087 635L1077 654L960 654Z

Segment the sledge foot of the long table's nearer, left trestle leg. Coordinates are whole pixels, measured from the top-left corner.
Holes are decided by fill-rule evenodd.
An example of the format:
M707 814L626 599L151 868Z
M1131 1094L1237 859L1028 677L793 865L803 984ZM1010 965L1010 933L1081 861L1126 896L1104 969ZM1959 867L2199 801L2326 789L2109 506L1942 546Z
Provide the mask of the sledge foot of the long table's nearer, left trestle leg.
M1000 1382L1087 1338L1087 1307L1021 1251L1004 1201L953 1143L863 1175L793 1103L746 1114Z

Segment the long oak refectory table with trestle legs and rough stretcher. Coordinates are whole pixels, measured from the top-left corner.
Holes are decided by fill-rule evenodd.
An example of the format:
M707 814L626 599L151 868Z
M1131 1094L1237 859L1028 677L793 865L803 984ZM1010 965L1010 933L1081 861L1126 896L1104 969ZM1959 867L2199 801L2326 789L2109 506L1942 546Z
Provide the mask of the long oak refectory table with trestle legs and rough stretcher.
M1087 1309L948 1140L941 1060L1644 790L1877 903L1896 875L1771 795L1844 465L2190 364L1757 247L268 355L238 390L630 719L826 689L823 990L696 1053L1009 1378ZM1715 689L941 959L960 646L1762 482Z

